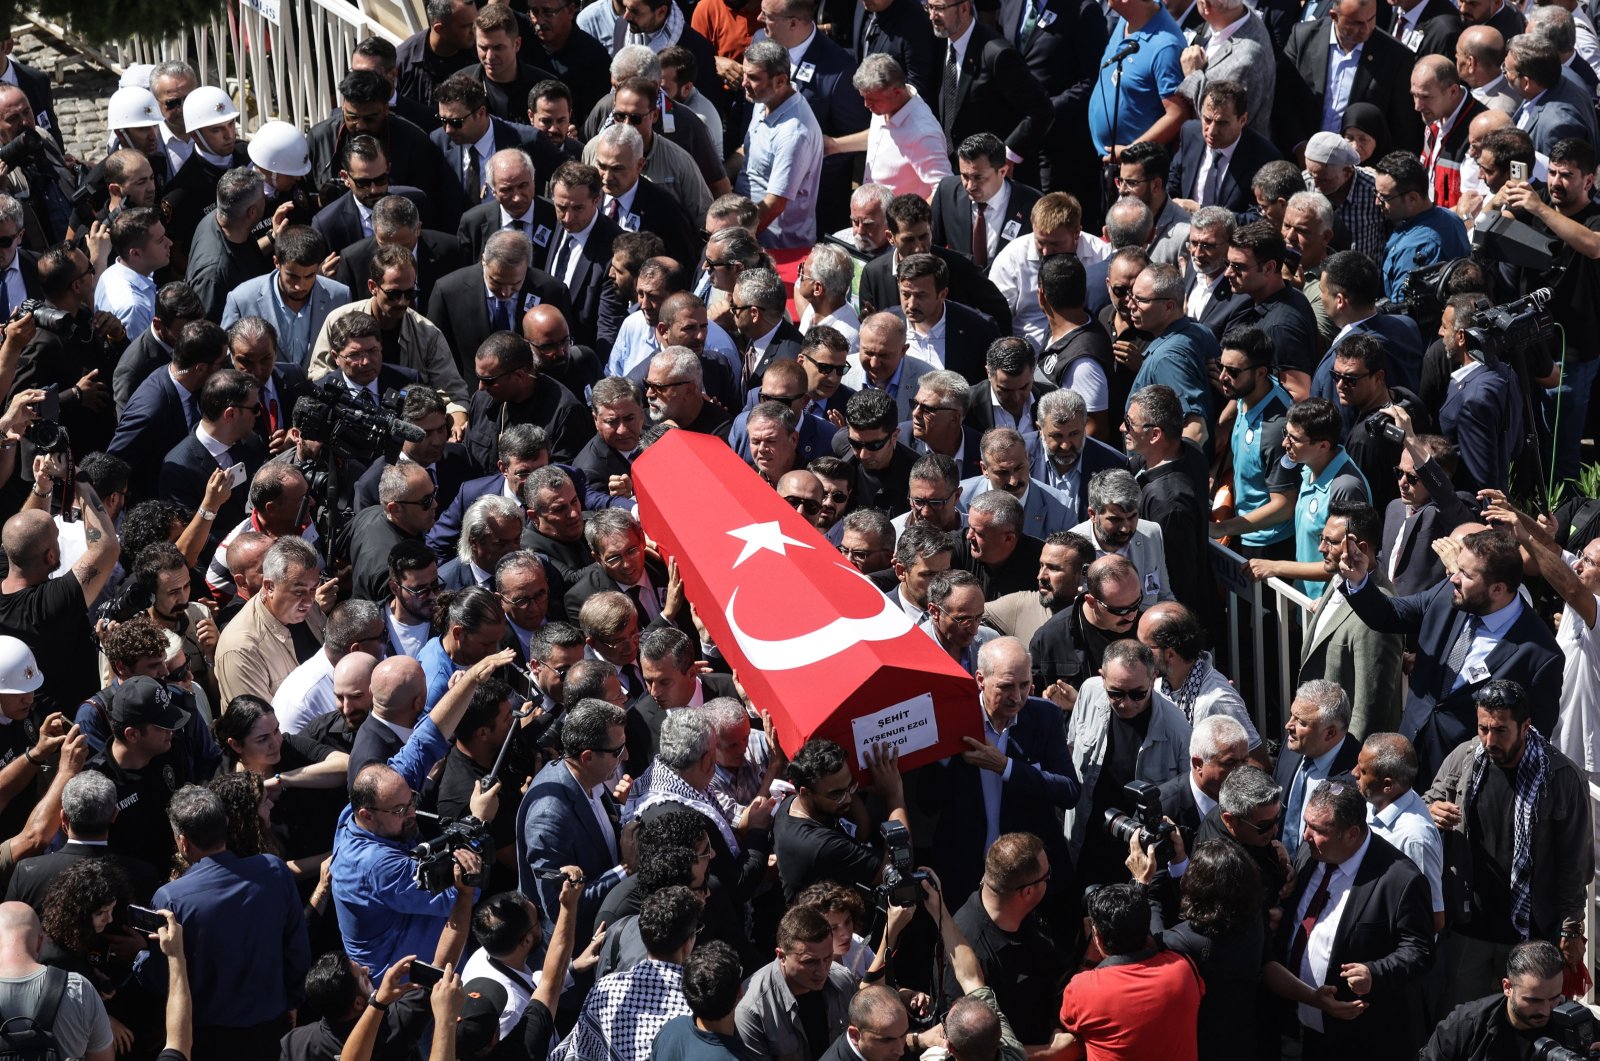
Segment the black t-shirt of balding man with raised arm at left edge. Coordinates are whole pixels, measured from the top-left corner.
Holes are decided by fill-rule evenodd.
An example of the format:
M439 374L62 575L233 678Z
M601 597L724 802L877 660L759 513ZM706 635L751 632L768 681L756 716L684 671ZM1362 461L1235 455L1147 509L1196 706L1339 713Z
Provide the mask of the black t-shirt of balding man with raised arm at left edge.
M34 693L34 719L70 714L99 688L90 610L75 573L0 594L0 634L24 642L45 675Z

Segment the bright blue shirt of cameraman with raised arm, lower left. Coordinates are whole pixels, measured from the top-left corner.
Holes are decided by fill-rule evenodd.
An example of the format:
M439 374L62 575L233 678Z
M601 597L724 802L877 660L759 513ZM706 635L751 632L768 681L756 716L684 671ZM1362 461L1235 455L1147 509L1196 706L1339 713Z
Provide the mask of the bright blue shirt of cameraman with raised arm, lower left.
M413 792L421 792L427 771L448 751L445 735L424 715L389 765ZM368 832L352 821L352 815L346 805L333 835L333 907L346 954L381 978L408 954L434 952L456 903L456 890L429 895L418 888L411 880L416 869L411 843Z

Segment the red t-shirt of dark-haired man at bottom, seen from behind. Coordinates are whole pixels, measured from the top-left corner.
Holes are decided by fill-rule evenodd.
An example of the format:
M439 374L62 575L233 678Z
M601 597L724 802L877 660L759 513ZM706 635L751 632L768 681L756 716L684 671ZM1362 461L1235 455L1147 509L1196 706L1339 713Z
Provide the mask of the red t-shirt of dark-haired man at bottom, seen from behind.
M1197 1061L1205 984L1181 954L1078 973L1061 995L1061 1026L1088 1061Z

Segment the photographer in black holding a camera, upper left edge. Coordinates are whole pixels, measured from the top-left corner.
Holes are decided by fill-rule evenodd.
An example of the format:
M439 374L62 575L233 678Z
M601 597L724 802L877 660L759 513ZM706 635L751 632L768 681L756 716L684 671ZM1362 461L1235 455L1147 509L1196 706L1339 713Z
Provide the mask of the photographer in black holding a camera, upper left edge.
M128 333L114 315L93 309L94 267L83 251L66 245L45 251L38 283L45 298L18 307L34 314L38 331L22 349L14 386L54 387L72 448L80 456L104 450L117 426L110 382Z

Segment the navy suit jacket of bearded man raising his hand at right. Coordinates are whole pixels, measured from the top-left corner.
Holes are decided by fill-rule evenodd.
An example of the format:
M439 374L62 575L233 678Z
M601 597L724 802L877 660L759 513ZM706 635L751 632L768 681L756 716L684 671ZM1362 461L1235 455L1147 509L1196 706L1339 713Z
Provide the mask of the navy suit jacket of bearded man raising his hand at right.
M1366 626L1405 634L1418 647L1400 733L1416 746L1419 789L1434 779L1445 755L1472 736L1477 725L1472 695L1488 680L1462 682L1454 691L1450 688L1454 675L1445 669L1445 658L1467 621L1467 615L1451 603L1453 589L1450 583L1440 583L1410 597L1387 597L1368 579L1360 592L1350 594L1350 607ZM1523 607L1485 666L1496 679L1522 683L1528 691L1533 725L1547 733L1560 707L1563 661L1555 635L1533 608Z

